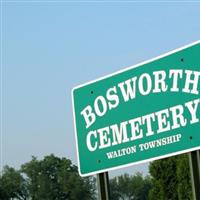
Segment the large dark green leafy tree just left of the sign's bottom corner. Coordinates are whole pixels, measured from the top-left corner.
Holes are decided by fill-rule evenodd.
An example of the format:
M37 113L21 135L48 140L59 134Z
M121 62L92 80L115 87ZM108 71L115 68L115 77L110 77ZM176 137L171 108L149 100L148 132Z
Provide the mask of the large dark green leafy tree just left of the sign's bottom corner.
M32 200L94 199L94 178L81 178L77 167L66 158L53 154L43 160L32 160L21 167L27 176Z

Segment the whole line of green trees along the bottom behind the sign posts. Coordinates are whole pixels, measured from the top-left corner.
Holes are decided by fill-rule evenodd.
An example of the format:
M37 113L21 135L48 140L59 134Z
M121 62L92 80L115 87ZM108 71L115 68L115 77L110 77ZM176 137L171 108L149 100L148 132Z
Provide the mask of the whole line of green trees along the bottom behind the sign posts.
M5 166L0 200L94 200L96 177L80 177L71 160L53 154L32 157L19 170ZM123 174L110 179L111 200L192 200L187 155L153 161L149 175Z

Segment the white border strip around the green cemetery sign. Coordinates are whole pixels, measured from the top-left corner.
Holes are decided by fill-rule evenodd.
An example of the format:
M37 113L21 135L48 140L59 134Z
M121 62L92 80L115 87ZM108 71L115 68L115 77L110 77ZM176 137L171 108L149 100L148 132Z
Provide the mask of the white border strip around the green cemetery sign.
M107 171L111 171L111 170L115 170L115 169L121 169L121 168L130 167L130 166L138 165L138 164L143 164L143 163L147 163L147 162L150 162L150 161L159 160L159 159L167 158L167 157L170 157L170 156L175 156L175 155L179 155L179 154L183 154L183 153L188 153L188 152L196 151L196 150L199 150L199 149L200 149L200 146L199 146L199 147L190 148L190 149L183 150L183 151L177 151L177 152L175 152L175 153L166 154L166 155L163 155L163 156L158 156L158 157L154 157L154 158L150 158L150 159L145 159L145 160L142 160L142 161L137 161L137 162L133 162L133 163L129 163L129 164L122 164L122 165L120 165L120 166L109 167L109 168L106 168L106 169L103 169L103 170L98 170L98 171L94 171L94 172L82 174L82 173L81 173L81 170L80 170L80 158L79 158L79 153L78 153L78 152L79 152L79 149L78 149L78 138L77 138L77 126L76 126L75 107L74 107L74 98L73 98L74 90L76 90L76 89L78 89L78 88L81 88L81 87L84 87L84 86L86 86L86 85L95 83L95 82L97 82L97 81L100 81L100 80L103 80L103 79L112 77L112 76L114 76L114 75L120 74L120 73L125 72L125 71L128 71L128 70L130 70L130 69L134 69L134 68L136 68L136 67L140 67L140 66L142 66L142 65L151 63L151 62L153 62L153 61L156 61L156 60L158 60L158 59L164 58L164 57L166 57L166 56L169 56L169 55L174 54L174 53L176 53L176 52L182 51L182 50L184 50L184 49L187 49L187 48L192 47L192 46L197 45L197 44L200 44L200 40L195 41L195 42L193 42L193 43L190 43L190 44L188 44L188 45L185 45L185 46L183 46L183 47L177 48L177 49L175 49L175 50L169 51L169 52L167 52L167 53L164 53L164 54L162 54L162 55L160 55L160 56L157 56L157 57L155 57L155 58L149 59L149 60L147 60L147 61L138 63L138 64L133 65L133 66L130 66L130 67L126 67L125 69L119 70L119 71L117 71L117 72L108 74L108 75L106 75L106 76L97 78L97 79L95 79L95 80L86 82L86 83L84 83L84 84L80 84L80 85L78 85L78 86L72 88L72 90L71 90L72 110L73 110L73 121L74 121L74 129L75 129L74 131L75 131L75 141L76 141L76 154L77 154L77 160L78 160L78 172L79 172L80 176L86 177L86 176L96 175L96 174L99 174L99 173L102 173L102 172L107 172Z

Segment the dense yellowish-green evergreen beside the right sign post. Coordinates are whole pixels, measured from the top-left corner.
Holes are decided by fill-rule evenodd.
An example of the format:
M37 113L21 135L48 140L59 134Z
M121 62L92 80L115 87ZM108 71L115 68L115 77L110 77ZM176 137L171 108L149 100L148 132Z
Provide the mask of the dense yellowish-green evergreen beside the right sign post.
M150 200L192 199L187 155L154 161L150 163L149 171L153 181Z

